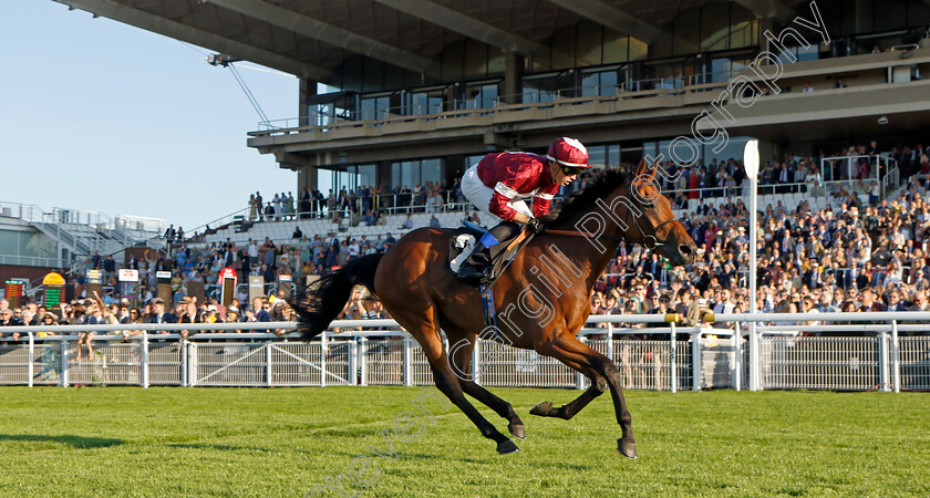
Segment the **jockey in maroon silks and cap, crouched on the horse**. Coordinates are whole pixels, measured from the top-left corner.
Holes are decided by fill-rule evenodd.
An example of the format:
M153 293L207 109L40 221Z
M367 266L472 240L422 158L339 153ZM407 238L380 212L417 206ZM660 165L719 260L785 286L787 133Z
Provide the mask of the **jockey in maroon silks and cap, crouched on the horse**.
M462 177L462 193L489 219L499 222L482 237L457 276L467 280L484 278L484 269L519 235L521 225L538 234L542 229L538 218L549 214L549 204L559 187L589 167L588 149L577 139L564 137L552 143L545 156L494 153L468 168ZM528 197L534 198L531 211L524 201Z

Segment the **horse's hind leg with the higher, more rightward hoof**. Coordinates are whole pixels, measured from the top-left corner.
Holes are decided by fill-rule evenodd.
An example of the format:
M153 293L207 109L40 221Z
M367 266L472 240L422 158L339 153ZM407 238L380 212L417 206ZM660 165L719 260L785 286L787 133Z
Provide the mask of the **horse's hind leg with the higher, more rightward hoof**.
M443 329L450 338L450 349L452 350L450 357L454 365L453 370L459 374L458 383L462 385L462 390L500 417L506 418L508 422L507 430L514 437L526 439L526 427L517 413L514 412L514 407L476 383L472 375L472 351L475 349L475 341L478 340L477 334L466 334L457 326L445 322L443 322Z

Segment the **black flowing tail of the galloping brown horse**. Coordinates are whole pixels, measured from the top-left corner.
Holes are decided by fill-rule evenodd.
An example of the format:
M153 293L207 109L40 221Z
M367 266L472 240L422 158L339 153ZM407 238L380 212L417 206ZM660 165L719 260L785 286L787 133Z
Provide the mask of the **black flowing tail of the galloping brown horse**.
M384 255L363 256L308 287L298 288L297 298L289 299L288 303L297 313L297 330L304 341L327 330L349 301L355 284L365 286L375 293L374 270L378 269L382 256Z

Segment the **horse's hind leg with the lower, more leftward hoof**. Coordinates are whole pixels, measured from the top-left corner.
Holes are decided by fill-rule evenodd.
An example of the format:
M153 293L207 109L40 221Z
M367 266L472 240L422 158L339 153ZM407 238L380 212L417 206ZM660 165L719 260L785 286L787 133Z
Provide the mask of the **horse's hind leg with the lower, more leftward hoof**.
M478 427L482 435L487 437L488 439L494 440L497 443L497 453L499 454L507 454L507 453L516 453L519 450L517 445L514 444L507 436L500 434L496 427L484 417L484 415L475 408L474 405L468 403L468 400L465 398L465 393L463 392L462 384L458 382L458 378L453 373L452 367L448 363L448 356L446 355L445 349L443 347L443 340L440 336L440 329L436 325L437 320L434 313L431 310L426 311L425 315L418 317L414 315L413 313L399 313L394 315L394 319L406 330L413 334L416 341L423 349L423 354L426 355L426 359L430 361L430 366L433 370L433 380L436 383L436 387L446 395L446 397L452 401L468 419L472 421L475 426Z

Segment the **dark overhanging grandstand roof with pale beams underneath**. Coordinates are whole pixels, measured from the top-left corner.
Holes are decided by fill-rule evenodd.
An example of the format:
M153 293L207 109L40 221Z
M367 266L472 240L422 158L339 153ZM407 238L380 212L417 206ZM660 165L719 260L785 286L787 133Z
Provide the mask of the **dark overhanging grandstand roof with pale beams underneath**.
M581 20L643 41L706 0L55 0L126 24L326 80L348 59L428 73L452 43L474 39L531 54ZM804 0L737 0L760 18L786 19Z

